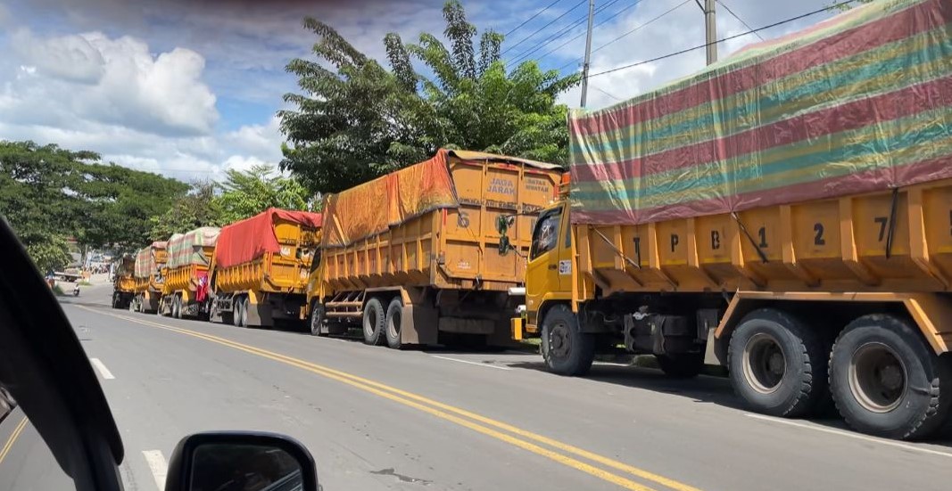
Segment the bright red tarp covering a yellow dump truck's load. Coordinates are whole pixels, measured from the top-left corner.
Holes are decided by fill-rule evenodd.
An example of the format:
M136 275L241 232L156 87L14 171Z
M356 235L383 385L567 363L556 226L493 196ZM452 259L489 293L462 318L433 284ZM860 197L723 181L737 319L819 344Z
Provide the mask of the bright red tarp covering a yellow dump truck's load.
M281 252L274 234L275 220L287 220L304 226L321 226L321 214L268 208L257 215L222 228L215 245L215 265L230 267L254 261L267 252Z

